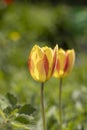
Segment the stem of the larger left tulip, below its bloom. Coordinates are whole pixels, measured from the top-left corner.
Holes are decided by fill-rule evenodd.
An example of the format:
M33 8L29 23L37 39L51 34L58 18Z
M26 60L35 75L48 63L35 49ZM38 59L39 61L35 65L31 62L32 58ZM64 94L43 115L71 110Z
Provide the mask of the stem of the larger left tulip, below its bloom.
M41 83L41 109L42 109L43 130L47 130L45 121L45 110L44 110L44 83Z

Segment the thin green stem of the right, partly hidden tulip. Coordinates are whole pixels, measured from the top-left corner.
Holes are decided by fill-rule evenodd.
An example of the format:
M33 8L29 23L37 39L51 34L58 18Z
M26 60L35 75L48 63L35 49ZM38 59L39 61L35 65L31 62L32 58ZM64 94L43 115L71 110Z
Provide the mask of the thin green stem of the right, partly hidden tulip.
M62 130L62 78L59 81L59 123Z

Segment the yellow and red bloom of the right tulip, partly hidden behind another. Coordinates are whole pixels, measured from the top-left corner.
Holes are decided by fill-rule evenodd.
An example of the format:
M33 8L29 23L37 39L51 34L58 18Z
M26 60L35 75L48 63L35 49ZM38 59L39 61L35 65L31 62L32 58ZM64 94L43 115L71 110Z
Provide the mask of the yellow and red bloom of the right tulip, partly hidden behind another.
M56 78L62 78L67 76L73 68L74 61L75 61L74 49L67 51L59 49L57 64L53 76Z

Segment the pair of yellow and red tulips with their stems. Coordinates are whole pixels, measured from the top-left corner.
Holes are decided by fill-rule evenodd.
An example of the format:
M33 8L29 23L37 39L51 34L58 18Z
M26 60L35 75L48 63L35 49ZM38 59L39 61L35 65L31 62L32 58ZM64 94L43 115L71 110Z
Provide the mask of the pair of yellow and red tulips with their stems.
M62 78L67 76L74 65L75 51L74 49L64 51L58 49L58 45L54 49L47 46L40 48L33 46L28 59L28 68L34 80L41 82L41 108L43 130L47 130L44 110L44 82L52 76L59 78L59 122L60 130L62 130Z

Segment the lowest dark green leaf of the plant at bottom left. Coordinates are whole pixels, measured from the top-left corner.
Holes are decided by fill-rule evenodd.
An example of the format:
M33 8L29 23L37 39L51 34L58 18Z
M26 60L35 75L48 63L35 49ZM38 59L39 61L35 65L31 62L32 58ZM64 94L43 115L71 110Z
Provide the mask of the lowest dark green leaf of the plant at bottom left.
M18 122L20 122L22 124L29 124L30 123L29 118L26 115L19 115L19 116L17 116L15 118L15 121L18 121Z

